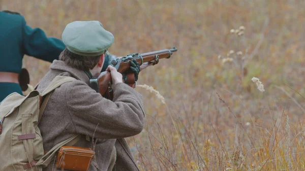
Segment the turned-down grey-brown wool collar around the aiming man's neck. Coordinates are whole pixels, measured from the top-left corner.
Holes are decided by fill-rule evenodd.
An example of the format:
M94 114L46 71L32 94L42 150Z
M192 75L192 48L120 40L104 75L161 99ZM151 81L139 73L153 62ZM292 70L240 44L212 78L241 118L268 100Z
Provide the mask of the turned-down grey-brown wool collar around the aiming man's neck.
M90 85L89 82L89 77L86 75L86 73L82 70L75 69L69 65L67 65L64 61L62 60L53 60L52 64L50 65L50 69L52 72L60 72L60 73L69 73L72 75L72 77L81 80L85 82L87 85ZM57 71L55 71L57 70Z

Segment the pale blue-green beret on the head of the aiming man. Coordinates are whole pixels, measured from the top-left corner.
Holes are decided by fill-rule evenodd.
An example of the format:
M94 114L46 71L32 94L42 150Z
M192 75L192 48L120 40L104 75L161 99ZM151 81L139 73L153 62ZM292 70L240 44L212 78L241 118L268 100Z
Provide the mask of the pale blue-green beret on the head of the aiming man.
M67 49L82 56L108 54L114 37L99 21L74 21L69 23L62 35Z

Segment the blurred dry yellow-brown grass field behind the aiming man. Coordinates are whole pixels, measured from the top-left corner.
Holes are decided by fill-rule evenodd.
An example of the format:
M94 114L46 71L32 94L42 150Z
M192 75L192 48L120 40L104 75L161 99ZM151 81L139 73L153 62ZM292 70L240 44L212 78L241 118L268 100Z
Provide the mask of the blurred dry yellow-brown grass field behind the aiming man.
M99 20L118 56L178 49L140 73L138 84L165 98L136 88L146 125L128 142L141 170L305 170L305 1L1 0L0 9L57 38L69 22ZM35 85L50 63L23 65Z

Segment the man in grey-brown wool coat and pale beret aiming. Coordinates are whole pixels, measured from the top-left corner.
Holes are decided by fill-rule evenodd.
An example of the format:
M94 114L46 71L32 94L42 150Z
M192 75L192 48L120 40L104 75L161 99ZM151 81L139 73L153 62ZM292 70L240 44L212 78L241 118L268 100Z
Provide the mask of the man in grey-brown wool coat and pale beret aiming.
M92 148L96 153L88 170L139 170L124 138L143 129L141 94L123 83L122 75L112 66L107 68L112 77L112 101L89 87L89 79L102 70L113 35L99 21L75 21L66 26L62 39L67 48L53 61L38 91L58 75L77 80L56 88L49 98L39 124L44 150L80 134L74 146ZM55 162L43 170L61 170L55 168Z

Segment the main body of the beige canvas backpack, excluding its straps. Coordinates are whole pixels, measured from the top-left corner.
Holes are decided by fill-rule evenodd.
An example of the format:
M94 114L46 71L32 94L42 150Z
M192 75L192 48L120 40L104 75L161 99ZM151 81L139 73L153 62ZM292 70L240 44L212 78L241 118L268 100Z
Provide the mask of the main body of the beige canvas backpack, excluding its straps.
M38 105L38 91L32 91L26 97L15 92L1 102L0 118L5 119L0 134L0 170L24 170L23 164L37 161L44 155L42 138L37 126ZM18 140L18 135L30 133L34 133L36 138ZM35 170L42 170L41 166L33 167Z

